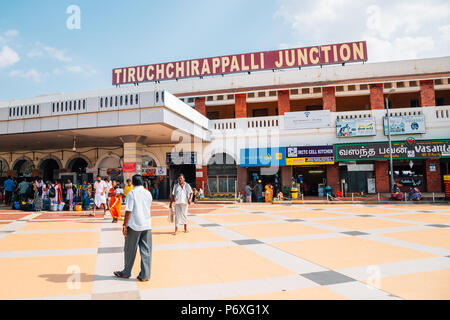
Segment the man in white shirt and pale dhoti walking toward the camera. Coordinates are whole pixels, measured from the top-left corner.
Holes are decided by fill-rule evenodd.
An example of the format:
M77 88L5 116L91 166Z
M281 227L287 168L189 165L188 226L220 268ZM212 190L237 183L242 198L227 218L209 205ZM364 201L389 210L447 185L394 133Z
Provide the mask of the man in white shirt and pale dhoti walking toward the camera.
M193 192L182 173L178 175L178 183L173 187L171 195L170 209L172 209L172 203L175 202L175 232L173 234L177 234L178 227L181 225L184 225L184 232L188 232L188 206L191 204Z

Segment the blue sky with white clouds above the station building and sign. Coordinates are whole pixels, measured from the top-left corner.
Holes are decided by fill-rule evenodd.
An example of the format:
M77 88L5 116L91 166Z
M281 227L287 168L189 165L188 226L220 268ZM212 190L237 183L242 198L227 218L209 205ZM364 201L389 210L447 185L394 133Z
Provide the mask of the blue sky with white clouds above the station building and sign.
M445 0L1 1L0 100L108 88L114 67L343 41L367 40L369 62L445 56L449 21Z

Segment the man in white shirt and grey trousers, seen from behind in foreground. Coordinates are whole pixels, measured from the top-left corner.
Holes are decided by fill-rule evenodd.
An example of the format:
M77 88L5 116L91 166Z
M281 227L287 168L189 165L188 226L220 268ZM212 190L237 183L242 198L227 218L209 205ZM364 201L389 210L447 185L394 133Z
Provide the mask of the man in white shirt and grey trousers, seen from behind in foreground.
M136 258L137 247L141 254L141 272L137 276L139 281L148 281L152 264L152 195L144 189L144 179L141 175L134 175L134 188L127 194L125 219L122 233L125 236L125 267L123 271L114 271L118 278L129 278Z

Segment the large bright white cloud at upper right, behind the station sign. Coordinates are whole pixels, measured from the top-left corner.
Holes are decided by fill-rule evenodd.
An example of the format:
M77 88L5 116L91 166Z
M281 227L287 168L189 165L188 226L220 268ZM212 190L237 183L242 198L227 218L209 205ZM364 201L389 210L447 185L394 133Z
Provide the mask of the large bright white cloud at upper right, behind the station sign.
M290 47L366 40L369 62L450 55L448 0L280 2L275 18L291 27Z

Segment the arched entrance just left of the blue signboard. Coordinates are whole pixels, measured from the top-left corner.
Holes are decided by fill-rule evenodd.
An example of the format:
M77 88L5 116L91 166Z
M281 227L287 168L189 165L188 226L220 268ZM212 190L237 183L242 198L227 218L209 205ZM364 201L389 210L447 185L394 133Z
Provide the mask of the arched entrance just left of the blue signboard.
M208 194L234 194L237 181L236 161L227 153L216 153L208 161Z

